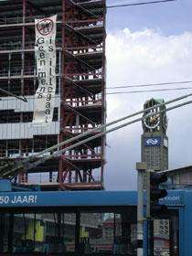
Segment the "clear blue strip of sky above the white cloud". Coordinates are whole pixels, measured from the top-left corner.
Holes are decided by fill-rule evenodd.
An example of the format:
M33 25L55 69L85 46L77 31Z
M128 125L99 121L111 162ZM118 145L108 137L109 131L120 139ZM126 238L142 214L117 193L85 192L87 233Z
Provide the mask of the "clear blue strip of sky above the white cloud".
M150 2L150 0L107 0L107 5L138 2ZM176 35L183 31L192 30L191 10L191 0L110 8L107 11L107 29L112 31L129 27L132 31L135 31L150 27L159 28L165 35Z

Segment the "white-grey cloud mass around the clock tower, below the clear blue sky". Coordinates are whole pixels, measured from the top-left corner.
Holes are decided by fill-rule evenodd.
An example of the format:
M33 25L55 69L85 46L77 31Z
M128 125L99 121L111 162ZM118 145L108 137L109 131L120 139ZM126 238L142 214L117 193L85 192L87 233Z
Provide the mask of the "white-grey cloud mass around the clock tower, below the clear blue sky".
M192 33L164 36L160 31L144 29L132 32L108 33L107 37L107 87L127 86L167 81L192 80ZM137 90L179 88L187 85L145 87ZM192 84L188 85L192 87ZM113 91L135 91L117 89ZM143 109L150 98L170 99L190 91L159 91L133 94L116 94L107 97L108 122ZM192 106L168 113L169 168L191 165ZM191 118L192 119L192 118ZM134 124L108 136L108 164L105 168L107 189L133 189L136 186L135 162L141 160L141 123ZM185 143L184 143L185 142ZM181 149L183 147L183 149ZM183 155L180 154L183 152Z

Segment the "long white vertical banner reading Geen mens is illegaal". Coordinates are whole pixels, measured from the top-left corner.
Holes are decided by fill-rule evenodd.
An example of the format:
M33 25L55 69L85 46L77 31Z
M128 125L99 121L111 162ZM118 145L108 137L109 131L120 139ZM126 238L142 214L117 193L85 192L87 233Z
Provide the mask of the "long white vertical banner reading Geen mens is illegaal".
M57 16L35 19L38 88L34 101L33 125L52 122L56 92Z

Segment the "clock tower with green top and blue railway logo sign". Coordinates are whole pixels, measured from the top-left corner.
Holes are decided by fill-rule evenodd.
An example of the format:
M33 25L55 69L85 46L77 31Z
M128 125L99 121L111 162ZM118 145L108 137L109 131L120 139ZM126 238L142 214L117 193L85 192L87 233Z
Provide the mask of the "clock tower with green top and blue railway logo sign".
M156 171L168 169L167 117L165 105L158 106L163 102L164 100L151 99L144 103L144 110L155 107L155 105L156 107L144 112L142 162L146 163L147 169ZM151 113L154 115L150 115Z

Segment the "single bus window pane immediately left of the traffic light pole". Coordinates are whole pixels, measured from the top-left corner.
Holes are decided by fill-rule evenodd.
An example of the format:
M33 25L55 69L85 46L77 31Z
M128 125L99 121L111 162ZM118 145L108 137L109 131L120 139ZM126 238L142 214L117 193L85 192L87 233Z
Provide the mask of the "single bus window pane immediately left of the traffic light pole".
M128 212L81 212L80 252L136 255L136 219Z

